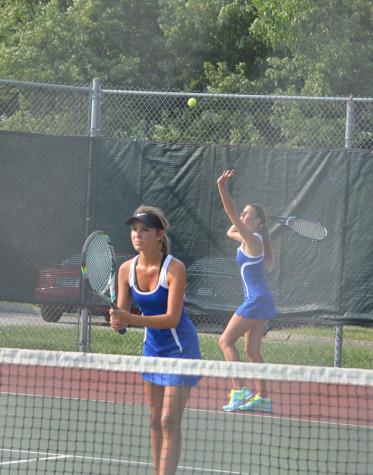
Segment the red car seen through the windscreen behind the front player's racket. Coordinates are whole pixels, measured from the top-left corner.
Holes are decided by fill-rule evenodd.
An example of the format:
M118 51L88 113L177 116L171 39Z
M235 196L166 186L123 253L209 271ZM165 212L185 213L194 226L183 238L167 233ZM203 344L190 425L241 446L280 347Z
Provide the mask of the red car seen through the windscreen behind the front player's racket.
M117 267L133 257L129 254L116 256ZM77 312L80 308L80 256L66 259L61 264L41 269L35 288L35 302L46 322L57 322L64 312ZM108 307L92 294L90 308L98 315L108 316Z

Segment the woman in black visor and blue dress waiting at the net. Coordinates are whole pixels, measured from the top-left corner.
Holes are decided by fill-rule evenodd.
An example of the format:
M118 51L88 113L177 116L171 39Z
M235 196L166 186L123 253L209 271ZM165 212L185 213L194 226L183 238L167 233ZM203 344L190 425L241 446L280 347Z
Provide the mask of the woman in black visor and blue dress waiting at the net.
M167 219L160 209L142 205L126 224L138 255L119 269L118 309L110 311L111 327L145 327L144 356L199 359L196 329L184 311L185 266L169 254ZM142 315L130 313L132 299ZM159 373L143 377L154 473L173 475L180 456L182 414L199 378Z

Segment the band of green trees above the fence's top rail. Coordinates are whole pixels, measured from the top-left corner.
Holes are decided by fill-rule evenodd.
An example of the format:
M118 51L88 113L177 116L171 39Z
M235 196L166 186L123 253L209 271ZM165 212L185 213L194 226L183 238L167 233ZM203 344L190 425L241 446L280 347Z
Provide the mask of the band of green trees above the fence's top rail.
M370 95L370 0L3 0L0 77Z

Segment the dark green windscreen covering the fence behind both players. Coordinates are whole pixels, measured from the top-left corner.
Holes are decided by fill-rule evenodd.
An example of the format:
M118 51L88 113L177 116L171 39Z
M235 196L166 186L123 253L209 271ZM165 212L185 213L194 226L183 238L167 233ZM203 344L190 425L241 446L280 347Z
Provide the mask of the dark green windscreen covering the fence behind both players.
M0 166L2 300L38 301L35 288L45 269L59 273L62 267L61 279L68 279L70 267L79 268L87 231L107 231L123 259L133 255L124 221L147 204L170 220L172 254L188 271L188 305L211 314L233 312L243 295L238 244L226 237L229 221L216 179L234 168L229 186L238 210L260 203L269 215L310 218L328 229L317 243L268 220L276 263L268 281L279 313L372 318L369 152L0 132ZM67 297L61 292L54 298L65 303ZM74 299L79 303L79 289Z

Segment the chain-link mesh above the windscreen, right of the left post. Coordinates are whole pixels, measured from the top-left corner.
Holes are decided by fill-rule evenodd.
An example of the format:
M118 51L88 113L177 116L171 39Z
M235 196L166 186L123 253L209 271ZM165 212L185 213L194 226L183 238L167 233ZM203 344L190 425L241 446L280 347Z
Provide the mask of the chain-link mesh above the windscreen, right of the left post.
M194 97L195 107L187 100ZM352 106L352 107L351 107ZM346 122L347 108L353 113ZM105 136L269 148L371 149L373 102L352 98L102 91Z

